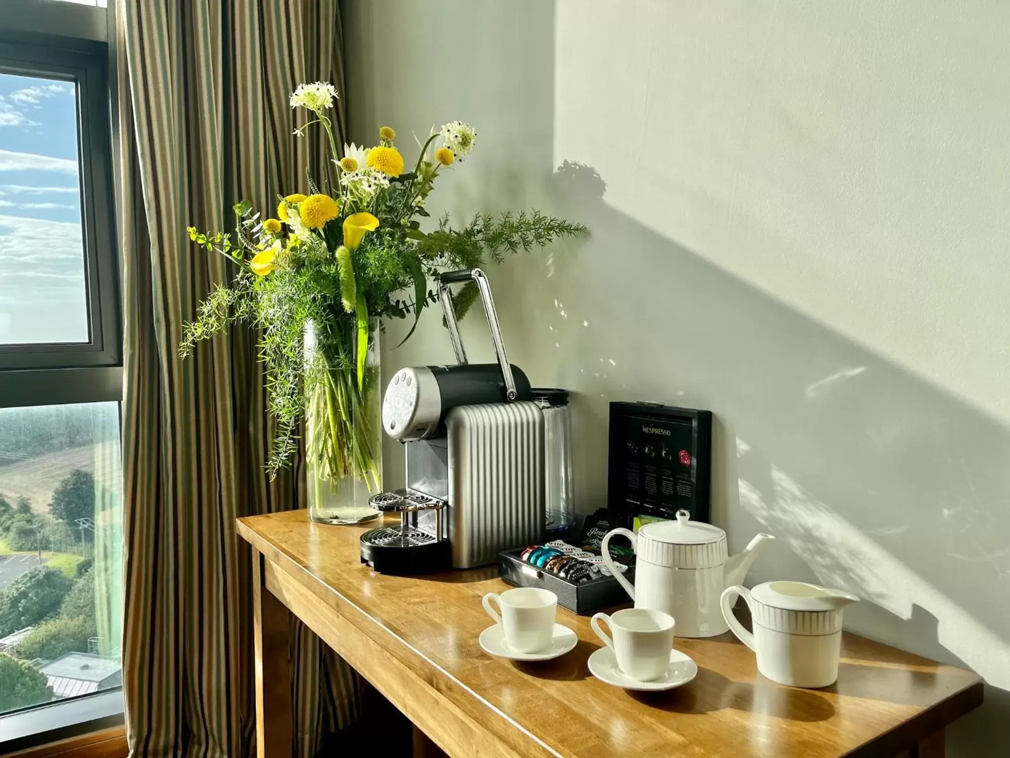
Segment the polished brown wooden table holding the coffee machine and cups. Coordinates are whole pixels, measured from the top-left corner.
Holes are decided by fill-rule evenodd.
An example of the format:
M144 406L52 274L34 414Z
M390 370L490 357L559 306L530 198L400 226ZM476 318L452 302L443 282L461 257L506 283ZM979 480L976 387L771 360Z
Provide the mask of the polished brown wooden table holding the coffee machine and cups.
M589 619L559 608L579 645L540 664L488 656L494 567L424 577L359 561L362 530L296 510L238 519L254 548L260 756L289 758L288 612L309 626L416 729L453 758L472 756L943 755L943 729L982 702L974 673L845 635L838 682L795 689L758 673L735 638L678 638L698 663L690 684L632 693L598 681Z

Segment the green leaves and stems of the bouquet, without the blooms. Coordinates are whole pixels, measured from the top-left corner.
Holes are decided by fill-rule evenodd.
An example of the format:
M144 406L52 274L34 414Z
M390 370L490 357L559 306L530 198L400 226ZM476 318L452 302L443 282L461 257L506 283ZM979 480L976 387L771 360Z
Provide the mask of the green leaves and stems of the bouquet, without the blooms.
M316 122L329 134L329 122L321 111L316 112L312 123ZM409 338L422 310L437 301L434 290L440 273L488 261L500 263L506 252L530 251L563 236L586 233L582 224L537 210L497 217L479 214L461 229L453 229L443 216L436 229L425 233L419 219L428 216L424 202L442 168L426 155L436 136L437 132L422 147L413 172L380 177L377 183L366 180L368 172L375 174L372 169L338 174L340 181L331 189L339 215L322 229L305 229L300 204L286 203L288 222L280 232L268 232L244 201L234 206L233 234L189 228L194 243L227 256L238 264L239 272L200 304L196 320L185 324L179 353L189 356L196 343L239 322L259 329L268 408L277 423L267 464L272 476L298 449L299 422L310 402L318 403L314 407L326 416L319 434L333 438L332 444L320 442L330 469L349 469L367 477L376 468L375 461L360 455L351 444L358 433L346 429L348 415L367 415L362 409L370 397L364 364L371 318L412 316ZM338 162L339 156L332 158ZM342 247L342 224L355 212L374 214L379 225L348 251ZM258 266L263 276L254 273L247 262L261 253L273 260L269 271ZM475 287L458 292L457 312L465 314L476 296ZM315 356L306 362L303 342L309 323L322 337ZM349 373L350 381L336 376L343 372Z

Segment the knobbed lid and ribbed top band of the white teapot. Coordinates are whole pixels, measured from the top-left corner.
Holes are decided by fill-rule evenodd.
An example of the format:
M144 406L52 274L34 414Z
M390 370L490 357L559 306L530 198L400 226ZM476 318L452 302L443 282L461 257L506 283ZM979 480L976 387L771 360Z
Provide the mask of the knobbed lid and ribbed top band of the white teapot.
M711 568L726 562L726 533L703 522L692 522L686 510L675 522L652 522L638 530L639 561L673 568Z

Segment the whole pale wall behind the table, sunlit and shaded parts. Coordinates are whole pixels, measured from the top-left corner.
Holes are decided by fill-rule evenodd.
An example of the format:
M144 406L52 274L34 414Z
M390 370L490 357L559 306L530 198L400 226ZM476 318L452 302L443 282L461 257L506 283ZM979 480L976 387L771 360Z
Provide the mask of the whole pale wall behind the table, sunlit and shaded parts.
M490 271L510 358L579 393L580 509L610 400L711 408L714 520L779 537L749 581L846 587L849 628L976 669L949 753L1010 752L1010 5L348 0L344 23L356 139L478 128L436 208L592 229ZM391 371L451 360L431 315Z

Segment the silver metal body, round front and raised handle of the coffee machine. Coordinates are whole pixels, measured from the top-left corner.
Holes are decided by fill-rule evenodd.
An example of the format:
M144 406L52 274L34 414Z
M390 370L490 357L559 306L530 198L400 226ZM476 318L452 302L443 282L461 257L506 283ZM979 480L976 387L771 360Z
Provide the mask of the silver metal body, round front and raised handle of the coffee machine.
M543 412L535 402L517 399L529 397L529 383L518 369L513 374L491 289L480 269L444 274L440 280L457 360L468 366L449 284L467 281L476 282L480 291L501 368L502 401L457 404L465 396L452 391L459 385L442 374L436 382L426 367L397 372L383 401L384 431L406 447L407 489L445 503L440 511L417 511L416 526L436 540L449 541L453 568L494 563L502 550L539 542L546 507ZM524 395L517 390L517 378ZM441 388L439 382L444 382Z

